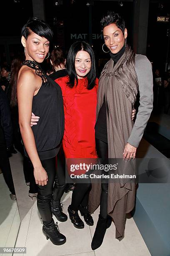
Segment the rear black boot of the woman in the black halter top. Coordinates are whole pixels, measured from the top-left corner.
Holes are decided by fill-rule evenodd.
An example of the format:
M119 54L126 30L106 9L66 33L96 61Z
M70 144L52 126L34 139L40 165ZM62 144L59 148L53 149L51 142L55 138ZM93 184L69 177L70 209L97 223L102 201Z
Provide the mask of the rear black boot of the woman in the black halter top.
M51 203L51 211L55 215L58 221L64 222L67 220L67 215L62 212L62 203L60 201L53 201Z

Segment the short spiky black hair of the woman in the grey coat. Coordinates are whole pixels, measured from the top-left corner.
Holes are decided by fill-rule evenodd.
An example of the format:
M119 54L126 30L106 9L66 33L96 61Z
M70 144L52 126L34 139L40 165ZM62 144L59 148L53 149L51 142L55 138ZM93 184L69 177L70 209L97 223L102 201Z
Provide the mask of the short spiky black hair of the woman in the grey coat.
M102 20L100 21L102 32L103 32L103 28L105 28L106 26L112 23L115 24L118 28L120 28L124 35L124 31L126 28L125 21L118 13L115 13L113 11L108 11L107 14L102 17Z

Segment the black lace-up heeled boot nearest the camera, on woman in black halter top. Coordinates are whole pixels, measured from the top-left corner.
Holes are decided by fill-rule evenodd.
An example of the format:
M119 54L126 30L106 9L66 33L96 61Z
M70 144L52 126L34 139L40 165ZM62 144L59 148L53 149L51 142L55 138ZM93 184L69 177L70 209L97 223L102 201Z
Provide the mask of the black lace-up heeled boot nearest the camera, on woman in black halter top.
M55 245L62 245L66 242L66 237L60 233L57 222L55 224L53 219L51 225L44 224L42 226L42 232L47 240L50 238L50 241Z

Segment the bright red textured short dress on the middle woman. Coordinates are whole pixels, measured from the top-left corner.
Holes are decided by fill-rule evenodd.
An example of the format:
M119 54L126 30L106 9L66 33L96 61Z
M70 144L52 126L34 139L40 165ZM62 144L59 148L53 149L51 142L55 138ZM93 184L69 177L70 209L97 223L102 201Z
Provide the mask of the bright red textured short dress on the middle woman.
M97 158L95 121L98 79L87 90L87 78L78 79L76 87L67 86L68 76L55 80L60 85L64 103L65 129L62 146L65 158Z

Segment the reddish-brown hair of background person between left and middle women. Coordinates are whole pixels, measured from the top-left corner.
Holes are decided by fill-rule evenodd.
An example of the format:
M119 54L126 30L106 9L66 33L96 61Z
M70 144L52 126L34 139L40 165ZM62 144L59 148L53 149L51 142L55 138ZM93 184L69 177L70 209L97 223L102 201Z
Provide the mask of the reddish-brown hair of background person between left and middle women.
M52 52L50 54L50 59L51 59L52 64L53 64L52 65L53 71L55 71L54 67L60 66L60 64L65 66L65 56L64 56L64 53L63 53L63 51L60 47L57 47L54 50L52 50Z

